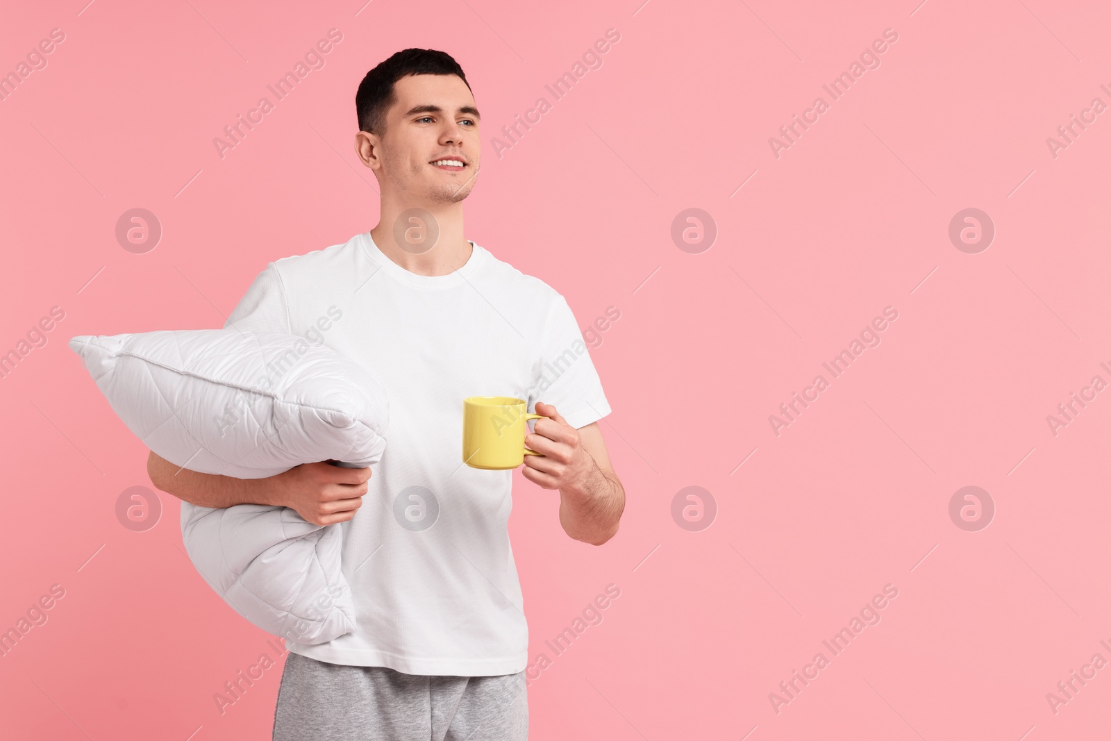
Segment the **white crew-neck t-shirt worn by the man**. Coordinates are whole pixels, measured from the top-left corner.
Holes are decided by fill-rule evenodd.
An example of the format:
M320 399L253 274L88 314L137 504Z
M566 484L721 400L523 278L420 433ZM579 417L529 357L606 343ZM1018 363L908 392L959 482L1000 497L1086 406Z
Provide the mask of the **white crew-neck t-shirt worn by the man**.
M528 663L507 527L513 472L463 463L463 399L517 397L530 412L543 401L574 428L610 405L564 298L470 244L447 276L406 270L369 232L276 260L224 324L322 339L389 395L386 452L342 523L359 629L318 645L287 639L294 653L409 674L510 674Z

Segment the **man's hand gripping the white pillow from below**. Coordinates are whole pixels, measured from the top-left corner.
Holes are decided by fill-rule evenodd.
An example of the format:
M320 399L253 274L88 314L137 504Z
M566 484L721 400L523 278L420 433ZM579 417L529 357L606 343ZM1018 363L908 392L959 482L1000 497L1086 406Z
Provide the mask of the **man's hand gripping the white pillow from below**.
M349 469L327 461L301 463L271 477L274 504L289 507L307 522L334 524L354 517L370 481L370 468Z

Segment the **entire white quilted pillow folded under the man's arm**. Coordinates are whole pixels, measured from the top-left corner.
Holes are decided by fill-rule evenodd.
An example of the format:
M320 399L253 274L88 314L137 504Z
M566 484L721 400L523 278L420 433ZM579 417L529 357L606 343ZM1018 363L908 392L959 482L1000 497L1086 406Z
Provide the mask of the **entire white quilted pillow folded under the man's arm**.
M303 338L177 330L81 336L69 347L128 429L182 468L260 479L324 460L363 468L386 448L384 389ZM357 627L341 524L312 524L286 507L181 502L201 577L250 622L299 643Z

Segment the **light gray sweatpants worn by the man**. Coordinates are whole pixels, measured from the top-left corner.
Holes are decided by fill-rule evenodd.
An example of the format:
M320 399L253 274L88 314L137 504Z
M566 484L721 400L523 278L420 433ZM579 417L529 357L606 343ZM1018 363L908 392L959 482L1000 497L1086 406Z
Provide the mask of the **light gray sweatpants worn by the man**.
M524 672L427 677L287 654L273 741L526 741Z

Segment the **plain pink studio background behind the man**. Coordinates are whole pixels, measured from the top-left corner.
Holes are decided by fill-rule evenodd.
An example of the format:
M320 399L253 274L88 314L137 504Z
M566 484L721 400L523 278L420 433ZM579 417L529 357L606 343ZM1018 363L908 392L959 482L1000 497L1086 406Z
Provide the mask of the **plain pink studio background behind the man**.
M117 519L151 485L147 450L66 342L221 327L268 261L374 226L354 92L412 46L453 54L482 111L468 237L583 328L621 312L591 350L620 533L572 541L556 492L514 474L530 657L552 661L532 739L1105 733L1111 668L1057 712L1047 693L1111 660L1111 399L1057 435L1047 415L1111 381L1111 112L1055 158L1045 139L1111 103L1111 9L917 2L9 3L0 71L66 38L0 101L0 352L66 317L0 379L0 630L66 595L0 658L0 735L270 738L281 662L223 714L212 698L270 637L184 557L176 499L146 531ZM221 159L213 138L330 28L326 67ZM543 86L609 28L602 67L553 102ZM881 66L832 101L821 86L888 28ZM541 96L499 159L492 138ZM769 137L818 96L829 110L777 158ZM147 253L114 237L132 208L162 224ZM689 208L718 229L698 253L671 239ZM965 208L995 227L979 253L948 236ZM769 415L888 306L879 347L777 435ZM697 531L672 518L691 485L717 504ZM994 502L987 528L950 518L965 485ZM544 640L610 583L603 621L553 657ZM833 657L822 641L885 584L882 620ZM769 693L818 652L777 712Z

